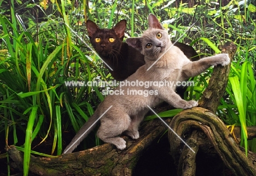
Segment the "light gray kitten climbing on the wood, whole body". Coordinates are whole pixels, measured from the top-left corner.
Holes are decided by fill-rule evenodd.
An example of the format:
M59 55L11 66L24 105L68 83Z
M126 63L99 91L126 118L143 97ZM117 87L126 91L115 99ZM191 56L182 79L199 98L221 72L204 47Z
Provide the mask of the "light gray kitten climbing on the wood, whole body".
M126 79L127 81L138 80L144 83L146 81L184 81L189 77L194 77L202 73L210 66L216 66L217 64L226 66L229 64L230 60L228 54L218 54L191 62L179 48L172 46L167 31L161 26L160 22L153 14L149 15L148 22L149 29L143 33L142 37L129 38L126 40L129 45L141 51L146 61L145 65L139 67L134 74ZM161 33L161 37L157 38L156 36L159 33ZM152 47L147 48L147 44L152 44ZM164 52L166 53L164 54ZM161 55L162 57L158 60ZM155 62L156 60L158 61ZM147 71L148 68L150 69ZM115 90L120 89L124 90L124 95L108 95L98 106L95 114L75 135L72 142L64 150L64 153L70 153L77 147L88 135L89 131L84 134L77 143L75 143L75 141L106 112L110 105L113 105L113 107L100 119L101 126L97 131L97 136L106 143L114 144L120 150L126 148L125 140L119 137L121 133L130 136L132 139L139 138L138 126L143 120L144 115L148 112L147 105L155 107L155 105L160 102L166 101L175 108L187 109L197 106L196 101L185 101L182 99L175 92L175 87L171 86L159 87L152 85L146 88L144 86L129 85L120 87L119 85ZM127 92L129 91L127 90L153 90L158 93L157 95L154 93L154 95L149 96L128 95ZM94 126L91 127L90 130L94 128ZM75 144L73 145L73 143ZM67 150L71 145L73 146Z

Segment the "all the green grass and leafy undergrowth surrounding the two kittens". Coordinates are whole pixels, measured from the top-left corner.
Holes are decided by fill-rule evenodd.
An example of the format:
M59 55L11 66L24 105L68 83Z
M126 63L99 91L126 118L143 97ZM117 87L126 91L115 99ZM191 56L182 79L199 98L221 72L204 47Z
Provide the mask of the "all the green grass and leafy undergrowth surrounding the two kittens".
M246 132L247 126L256 125L255 6L233 0L224 7L205 1L177 8L173 2L10 1L9 6L0 1L0 136L5 136L7 145L24 152L24 175L28 174L31 153L60 155L66 131L77 132L104 98L102 87L65 85L65 81L111 78L89 48L86 19L101 28L126 19L126 37L132 37L147 29L147 16L154 13L170 30L172 40L194 46L202 57L218 53L227 41L235 42L237 54L218 115L227 125L241 126L241 145L256 152L256 140L247 142ZM199 99L211 73L212 68L193 78L195 86L188 87L185 99ZM180 111L159 115L174 116ZM90 136L84 146L91 146L91 141L101 144ZM36 146L46 142L50 152L38 152ZM9 166L7 169L10 174Z

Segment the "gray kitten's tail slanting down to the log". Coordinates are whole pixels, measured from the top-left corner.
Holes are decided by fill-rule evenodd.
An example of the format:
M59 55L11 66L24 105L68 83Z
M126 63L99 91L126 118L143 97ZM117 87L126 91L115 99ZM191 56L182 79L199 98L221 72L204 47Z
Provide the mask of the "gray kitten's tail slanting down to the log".
M100 118L98 118L98 113L96 110L94 115L92 115L91 118L89 118L88 121L80 128L77 134L75 134L74 138L71 140L62 154L70 154L75 148L77 148L80 142L82 142L82 140L84 140L84 138L86 138L86 136L88 136L88 134L94 130L98 120L100 120Z

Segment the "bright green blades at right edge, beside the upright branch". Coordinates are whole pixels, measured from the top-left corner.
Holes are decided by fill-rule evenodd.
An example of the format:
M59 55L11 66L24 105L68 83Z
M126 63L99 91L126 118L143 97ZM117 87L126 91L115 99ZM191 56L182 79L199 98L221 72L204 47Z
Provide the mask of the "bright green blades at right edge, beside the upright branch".
M231 67L226 99L222 99L219 107L220 114L226 116L225 121L232 125L241 126L241 145L247 149L247 126L256 125L256 95L255 95L255 77L252 63L244 62L239 69ZM228 103L232 102L232 103ZM228 118L228 117L232 118ZM255 139L249 142L249 149L255 152ZM246 151L247 152L247 151Z

